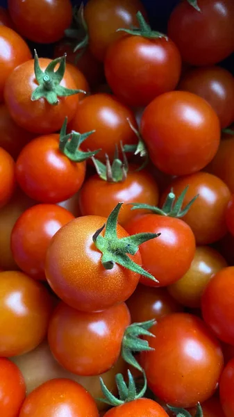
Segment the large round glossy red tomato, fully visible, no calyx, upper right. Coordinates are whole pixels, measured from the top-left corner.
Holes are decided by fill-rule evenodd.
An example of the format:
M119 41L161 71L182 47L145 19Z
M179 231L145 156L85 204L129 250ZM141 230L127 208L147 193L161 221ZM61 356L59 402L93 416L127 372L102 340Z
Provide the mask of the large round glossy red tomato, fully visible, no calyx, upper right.
M191 92L172 91L156 97L142 115L141 131L153 164L166 174L201 170L219 147L215 111Z

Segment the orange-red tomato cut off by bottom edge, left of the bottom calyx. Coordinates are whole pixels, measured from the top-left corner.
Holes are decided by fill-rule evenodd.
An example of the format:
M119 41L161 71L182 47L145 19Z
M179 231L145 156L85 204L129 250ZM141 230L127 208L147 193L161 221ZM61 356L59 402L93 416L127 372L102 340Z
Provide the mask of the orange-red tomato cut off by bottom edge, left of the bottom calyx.
M91 395L77 382L55 378L44 382L24 400L19 417L99 417Z

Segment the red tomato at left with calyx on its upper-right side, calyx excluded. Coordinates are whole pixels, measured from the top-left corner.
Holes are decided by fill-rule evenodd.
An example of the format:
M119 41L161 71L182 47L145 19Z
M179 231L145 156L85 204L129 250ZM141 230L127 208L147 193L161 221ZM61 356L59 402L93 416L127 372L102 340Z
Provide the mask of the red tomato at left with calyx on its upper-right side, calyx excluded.
M85 170L85 161L72 162L60 152L58 134L31 140L16 163L17 182L24 193L48 204L72 197L83 184Z

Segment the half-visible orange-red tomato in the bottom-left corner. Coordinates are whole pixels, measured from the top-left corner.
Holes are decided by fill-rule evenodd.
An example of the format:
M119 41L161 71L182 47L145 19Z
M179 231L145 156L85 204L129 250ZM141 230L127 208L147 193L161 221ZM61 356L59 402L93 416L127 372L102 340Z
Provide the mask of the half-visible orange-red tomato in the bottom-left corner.
M19 368L6 358L0 358L0 410L4 417L19 415L26 386Z

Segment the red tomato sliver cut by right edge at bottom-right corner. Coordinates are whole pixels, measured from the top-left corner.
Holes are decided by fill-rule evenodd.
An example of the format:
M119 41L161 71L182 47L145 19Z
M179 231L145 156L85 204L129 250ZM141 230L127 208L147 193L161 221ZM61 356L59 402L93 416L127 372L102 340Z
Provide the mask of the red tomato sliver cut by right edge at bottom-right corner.
M224 368L219 382L220 401L226 417L233 417L234 413L234 359Z

